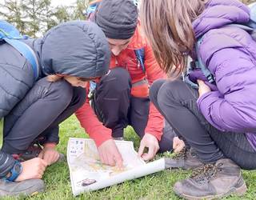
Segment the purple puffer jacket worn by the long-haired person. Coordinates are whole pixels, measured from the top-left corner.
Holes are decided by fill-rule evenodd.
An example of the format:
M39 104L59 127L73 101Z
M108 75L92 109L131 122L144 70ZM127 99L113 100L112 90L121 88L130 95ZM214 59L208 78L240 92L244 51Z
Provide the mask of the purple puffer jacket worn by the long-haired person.
M198 108L218 130L246 133L256 150L256 42L244 30L223 27L248 22L249 13L236 0L210 0L193 26L196 38L204 34L199 54L218 88L203 94Z

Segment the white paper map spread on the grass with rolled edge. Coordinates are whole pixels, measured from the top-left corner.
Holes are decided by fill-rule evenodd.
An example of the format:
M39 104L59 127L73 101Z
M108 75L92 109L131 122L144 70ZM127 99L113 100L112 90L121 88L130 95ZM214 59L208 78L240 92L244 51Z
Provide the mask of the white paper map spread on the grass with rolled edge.
M126 180L152 174L165 169L164 159L146 164L138 158L133 142L115 141L123 159L123 169L106 166L100 162L98 150L92 139L70 138L67 160L73 194L102 189Z

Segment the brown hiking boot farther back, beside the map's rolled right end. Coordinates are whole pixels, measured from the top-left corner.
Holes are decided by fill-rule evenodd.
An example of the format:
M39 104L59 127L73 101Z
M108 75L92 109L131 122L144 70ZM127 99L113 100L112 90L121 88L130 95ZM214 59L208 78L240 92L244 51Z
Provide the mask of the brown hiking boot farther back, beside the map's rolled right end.
M197 155L193 152L192 148L183 148L173 158L165 158L166 169L191 170L198 166L203 166L203 163L198 159Z

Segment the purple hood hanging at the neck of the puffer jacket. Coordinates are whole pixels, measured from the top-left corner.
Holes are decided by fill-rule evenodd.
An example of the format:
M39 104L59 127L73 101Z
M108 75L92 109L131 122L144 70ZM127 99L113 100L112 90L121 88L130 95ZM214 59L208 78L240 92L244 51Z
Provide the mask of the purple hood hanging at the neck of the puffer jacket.
M217 29L230 23L244 23L250 19L249 8L238 0L210 0L206 9L193 22L195 37L208 30Z

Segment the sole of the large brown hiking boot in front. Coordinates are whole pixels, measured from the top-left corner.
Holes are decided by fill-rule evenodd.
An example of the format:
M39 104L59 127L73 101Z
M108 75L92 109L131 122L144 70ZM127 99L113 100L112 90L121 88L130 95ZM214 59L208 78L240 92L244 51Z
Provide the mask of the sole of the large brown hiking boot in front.
M246 193L247 190L247 186L246 183L244 182L242 184L242 186L239 186L238 188L233 187L231 190L229 190L228 192L226 192L225 194L218 194L218 195L208 195L208 196L204 196L204 197L193 197L190 195L186 195L186 194L178 194L177 191L175 191L176 194L178 194L178 196L185 198L187 200L202 200L202 199L207 199L207 200L212 200L212 199L216 199L216 198L224 198L226 196L229 196L231 194L236 194L238 196L242 196L243 194Z

